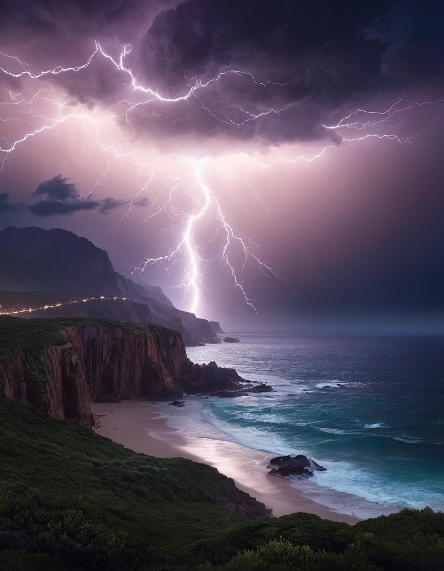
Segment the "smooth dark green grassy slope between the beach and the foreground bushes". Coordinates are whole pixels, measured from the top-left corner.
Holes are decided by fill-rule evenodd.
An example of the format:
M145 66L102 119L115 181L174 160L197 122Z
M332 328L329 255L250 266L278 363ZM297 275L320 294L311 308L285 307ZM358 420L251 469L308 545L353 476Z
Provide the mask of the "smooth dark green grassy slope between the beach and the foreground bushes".
M153 545L187 545L240 521L215 503L241 494L215 469L136 454L90 428L1 397L0 484L11 482L81 496L87 517Z

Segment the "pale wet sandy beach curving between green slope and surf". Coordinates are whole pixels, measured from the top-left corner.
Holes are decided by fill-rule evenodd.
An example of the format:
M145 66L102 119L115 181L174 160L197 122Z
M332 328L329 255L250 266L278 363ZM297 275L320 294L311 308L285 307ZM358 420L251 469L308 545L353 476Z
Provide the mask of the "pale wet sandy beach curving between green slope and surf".
M160 458L181 456L213 466L235 480L238 488L272 508L273 515L314 513L324 519L354 524L358 518L334 512L302 495L289 478L267 474L270 455L218 437L186 433L167 424L183 409L147 401L92 404L95 432L135 452ZM186 413L185 413L186 415ZM216 429L214 429L216 430Z

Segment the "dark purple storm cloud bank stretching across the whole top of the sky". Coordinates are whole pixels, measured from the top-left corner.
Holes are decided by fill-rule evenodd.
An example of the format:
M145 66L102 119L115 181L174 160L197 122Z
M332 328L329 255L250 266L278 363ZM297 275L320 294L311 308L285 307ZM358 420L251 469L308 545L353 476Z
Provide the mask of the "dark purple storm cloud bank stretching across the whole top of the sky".
M128 115L126 106L114 109L125 128L158 144L219 135L266 144L339 142L322 124L372 98L393 103L425 82L435 91L443 87L444 8L433 1L9 0L3 6L5 38L14 29L48 64L84 63L99 40L116 58L119 46L131 44L126 65L164 97L186 93L193 77L208 81L223 70L245 71L265 84L228 74L184 102L148 96ZM51 81L88 106L143 99L100 55L82 73ZM253 119L272 109L280 112Z

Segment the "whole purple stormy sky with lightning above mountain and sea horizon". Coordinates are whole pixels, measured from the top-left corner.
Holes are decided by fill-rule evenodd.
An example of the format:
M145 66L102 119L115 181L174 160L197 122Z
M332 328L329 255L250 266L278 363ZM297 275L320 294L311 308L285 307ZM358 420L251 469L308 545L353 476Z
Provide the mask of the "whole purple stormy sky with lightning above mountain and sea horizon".
M444 332L442 2L0 5L0 229L227 331Z

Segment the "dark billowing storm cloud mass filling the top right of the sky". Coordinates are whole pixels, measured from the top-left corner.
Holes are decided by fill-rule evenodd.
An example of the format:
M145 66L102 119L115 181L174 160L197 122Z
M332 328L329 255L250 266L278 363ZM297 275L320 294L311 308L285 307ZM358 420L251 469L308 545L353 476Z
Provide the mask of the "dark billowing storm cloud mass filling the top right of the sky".
M139 124L156 136L162 128L167 135L188 129L273 143L326 136L322 123L362 101L381 94L395 100L417 86L410 65L442 86L442 14L433 2L418 11L393 1L188 0L160 13L140 43L144 70L156 85L180 93L194 75L208 80L223 69L248 71L267 85L231 74L197 91L199 102L184 103L181 121L142 107ZM271 109L281 112L233 125L251 118L247 112Z

